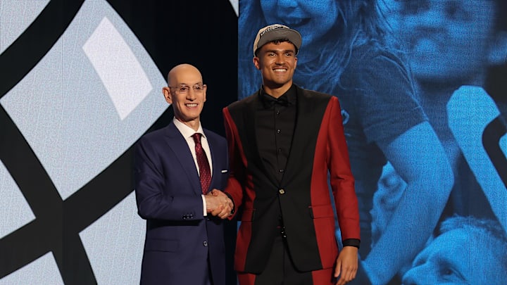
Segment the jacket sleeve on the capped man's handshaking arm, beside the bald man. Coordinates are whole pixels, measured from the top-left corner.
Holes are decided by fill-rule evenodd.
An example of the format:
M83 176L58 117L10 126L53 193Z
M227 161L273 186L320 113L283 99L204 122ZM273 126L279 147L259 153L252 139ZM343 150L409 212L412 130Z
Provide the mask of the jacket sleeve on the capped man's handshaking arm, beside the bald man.
M246 159L244 158L244 152L242 149L241 140L239 139L236 124L234 124L228 108L223 108L223 115L230 166L230 174L229 179L227 180L225 193L229 194L229 196L232 198L232 201L234 202L235 214L237 213L239 206L242 205L243 201ZM233 217L234 215L229 217L229 219L232 219Z

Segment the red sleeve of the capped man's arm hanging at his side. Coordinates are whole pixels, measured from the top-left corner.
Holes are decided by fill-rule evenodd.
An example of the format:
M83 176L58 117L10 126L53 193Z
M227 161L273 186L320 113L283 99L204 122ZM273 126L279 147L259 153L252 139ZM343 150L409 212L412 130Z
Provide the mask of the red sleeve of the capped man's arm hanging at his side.
M354 178L346 146L341 108L337 97L332 97L330 112L329 144L330 157L327 165L330 170L330 183L336 205L342 240L360 239L359 210Z

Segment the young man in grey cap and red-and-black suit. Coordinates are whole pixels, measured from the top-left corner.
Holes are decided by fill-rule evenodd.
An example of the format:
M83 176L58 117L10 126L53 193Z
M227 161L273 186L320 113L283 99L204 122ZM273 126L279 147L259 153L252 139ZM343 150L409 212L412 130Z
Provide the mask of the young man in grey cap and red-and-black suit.
M225 192L242 212L234 260L242 285L345 284L358 268L358 201L339 101L293 84L301 41L284 25L259 30L253 64L263 85L223 110Z

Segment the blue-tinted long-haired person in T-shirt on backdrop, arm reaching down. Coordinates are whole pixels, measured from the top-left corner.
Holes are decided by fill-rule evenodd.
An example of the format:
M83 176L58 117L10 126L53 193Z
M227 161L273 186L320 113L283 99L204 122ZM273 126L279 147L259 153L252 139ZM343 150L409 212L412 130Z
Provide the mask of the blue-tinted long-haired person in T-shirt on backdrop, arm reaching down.
M261 84L251 77L251 58L242 57L251 49L248 35L280 23L305 39L294 82L339 98L361 215L360 270L372 284L387 284L431 236L453 174L376 1L241 1L239 9L239 96ZM370 248L373 194L388 160L407 187Z

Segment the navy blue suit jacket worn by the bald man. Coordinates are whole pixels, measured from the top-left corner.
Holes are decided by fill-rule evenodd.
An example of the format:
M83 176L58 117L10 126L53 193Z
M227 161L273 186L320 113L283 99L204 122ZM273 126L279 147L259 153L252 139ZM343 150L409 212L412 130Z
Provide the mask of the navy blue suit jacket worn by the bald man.
M227 184L227 143L204 129L211 149L210 189ZM209 256L214 284L225 284L223 223L204 217L199 174L173 123L144 135L135 151L135 193L146 219L141 284L203 284Z

